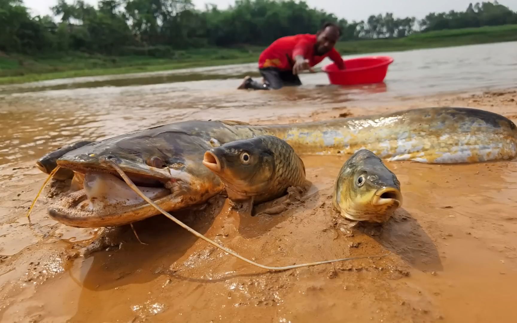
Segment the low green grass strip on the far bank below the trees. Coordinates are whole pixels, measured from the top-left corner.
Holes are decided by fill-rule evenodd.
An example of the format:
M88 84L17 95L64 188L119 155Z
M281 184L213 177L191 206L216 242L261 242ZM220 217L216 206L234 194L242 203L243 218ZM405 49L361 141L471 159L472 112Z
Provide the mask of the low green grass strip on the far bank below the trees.
M517 25L440 30L397 39L346 41L338 43L336 47L345 55L503 41L517 41ZM0 55L0 84L251 63L257 60L263 48L250 46L238 49L206 48L174 51L173 57L169 58L112 57L85 53L56 53L29 57L0 53L2 54Z

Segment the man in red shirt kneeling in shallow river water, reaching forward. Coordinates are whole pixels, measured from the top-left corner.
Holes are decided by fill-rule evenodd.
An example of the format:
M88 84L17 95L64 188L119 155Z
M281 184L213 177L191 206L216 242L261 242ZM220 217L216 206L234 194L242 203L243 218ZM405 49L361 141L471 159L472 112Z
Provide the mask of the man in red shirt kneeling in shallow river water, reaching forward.
M302 70L314 72L312 67L325 57L344 69L343 59L334 49L340 36L336 24L326 23L316 35L299 34L275 40L258 58L258 70L265 82L258 83L246 76L238 89L268 90L301 85L298 73Z

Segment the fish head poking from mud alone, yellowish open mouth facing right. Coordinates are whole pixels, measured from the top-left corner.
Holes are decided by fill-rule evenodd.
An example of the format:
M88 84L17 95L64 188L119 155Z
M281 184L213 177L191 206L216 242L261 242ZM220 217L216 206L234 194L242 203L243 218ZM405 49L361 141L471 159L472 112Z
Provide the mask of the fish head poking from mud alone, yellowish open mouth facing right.
M400 182L373 152L361 149L341 167L332 203L349 220L385 222L402 205Z

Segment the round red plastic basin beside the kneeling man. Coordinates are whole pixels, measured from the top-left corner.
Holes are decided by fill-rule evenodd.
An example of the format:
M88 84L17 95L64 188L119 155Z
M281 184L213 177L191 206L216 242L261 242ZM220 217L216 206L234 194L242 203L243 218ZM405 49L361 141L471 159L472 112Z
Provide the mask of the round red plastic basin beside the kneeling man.
M389 56L367 56L343 59L345 70L335 63L323 67L331 84L353 85L381 83L386 77L388 66L393 63Z

